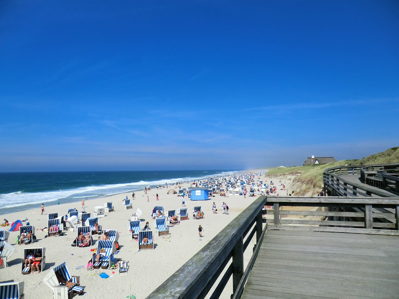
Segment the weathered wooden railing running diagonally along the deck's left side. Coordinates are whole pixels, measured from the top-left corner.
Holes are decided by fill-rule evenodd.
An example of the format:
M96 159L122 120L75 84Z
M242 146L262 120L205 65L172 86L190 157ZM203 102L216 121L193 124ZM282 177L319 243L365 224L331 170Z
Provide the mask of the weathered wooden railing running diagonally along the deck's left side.
M259 243L265 233L262 230L262 208L265 203L265 196L257 198L147 298L202 299L221 277L213 293L208 296L216 299L231 276L232 293L237 289L242 291L243 284L240 281L244 275L243 254L255 234Z

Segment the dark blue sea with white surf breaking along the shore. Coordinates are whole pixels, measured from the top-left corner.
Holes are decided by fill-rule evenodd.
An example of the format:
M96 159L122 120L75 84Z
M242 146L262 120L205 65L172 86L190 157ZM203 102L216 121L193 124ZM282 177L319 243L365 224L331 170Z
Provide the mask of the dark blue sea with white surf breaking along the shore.
M225 177L240 170L67 171L0 173L0 214L80 199L98 199L144 187Z

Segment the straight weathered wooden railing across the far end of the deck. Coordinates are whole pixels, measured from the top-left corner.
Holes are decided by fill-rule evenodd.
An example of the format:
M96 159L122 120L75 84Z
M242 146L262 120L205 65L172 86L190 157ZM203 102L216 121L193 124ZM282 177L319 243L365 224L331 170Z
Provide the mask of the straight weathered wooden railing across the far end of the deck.
M267 197L269 229L321 230L399 235L399 197ZM308 207L285 210L284 207ZM311 210L312 208L318 208ZM303 218L300 218L303 216ZM306 219L318 216L318 219ZM388 220L388 221L383 221ZM306 226L304 226L306 225Z

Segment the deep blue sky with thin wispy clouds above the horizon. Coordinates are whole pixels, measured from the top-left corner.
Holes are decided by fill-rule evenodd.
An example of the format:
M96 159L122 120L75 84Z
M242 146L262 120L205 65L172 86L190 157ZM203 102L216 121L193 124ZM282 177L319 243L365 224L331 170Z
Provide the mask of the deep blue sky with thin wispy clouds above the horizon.
M0 171L399 146L397 1L1 1Z

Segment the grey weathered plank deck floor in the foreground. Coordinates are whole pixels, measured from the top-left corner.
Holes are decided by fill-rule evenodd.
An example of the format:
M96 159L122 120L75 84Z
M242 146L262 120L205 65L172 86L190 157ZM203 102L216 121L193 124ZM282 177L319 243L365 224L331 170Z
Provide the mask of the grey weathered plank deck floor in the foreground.
M398 299L399 236L267 230L243 299Z

